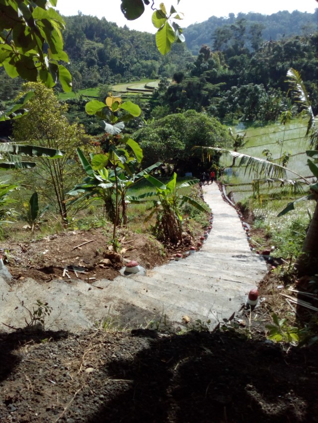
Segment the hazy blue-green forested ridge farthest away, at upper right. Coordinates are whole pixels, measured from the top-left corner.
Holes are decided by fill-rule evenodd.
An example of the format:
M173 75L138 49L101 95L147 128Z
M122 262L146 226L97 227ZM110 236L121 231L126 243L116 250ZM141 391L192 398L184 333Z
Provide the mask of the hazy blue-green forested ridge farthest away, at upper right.
M253 49L253 42L280 40L295 35L307 35L318 30L318 8L315 13L292 13L287 10L262 15L260 13L230 13L226 17L211 16L202 23L184 28L188 49L197 55L203 44L213 50L222 50L231 38L241 36L245 46Z

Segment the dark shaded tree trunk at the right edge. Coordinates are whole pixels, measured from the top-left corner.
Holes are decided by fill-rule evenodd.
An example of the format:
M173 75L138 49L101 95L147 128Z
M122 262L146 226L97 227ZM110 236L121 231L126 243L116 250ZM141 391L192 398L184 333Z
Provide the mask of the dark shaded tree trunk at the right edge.
M299 276L313 275L318 273L318 202L314 211L313 219L309 225L302 254L296 263Z

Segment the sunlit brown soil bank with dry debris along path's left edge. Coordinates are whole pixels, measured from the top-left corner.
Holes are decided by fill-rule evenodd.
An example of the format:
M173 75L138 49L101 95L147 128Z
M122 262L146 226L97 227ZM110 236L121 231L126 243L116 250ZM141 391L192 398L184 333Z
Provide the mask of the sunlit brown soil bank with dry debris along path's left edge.
M169 260L176 252L188 249L191 243L191 237L185 235L186 242L182 247L164 249L152 236L122 231L120 247L115 253L107 245L109 240L109 233L99 228L51 235L35 242L9 242L3 248L8 251L4 260L13 278L19 280L31 277L46 282L62 278L64 268L72 265L86 269L85 273L78 272L79 279L112 280L119 275L125 261L136 260L146 269L151 269ZM74 273L71 275L74 276ZM67 276L64 278L67 279Z

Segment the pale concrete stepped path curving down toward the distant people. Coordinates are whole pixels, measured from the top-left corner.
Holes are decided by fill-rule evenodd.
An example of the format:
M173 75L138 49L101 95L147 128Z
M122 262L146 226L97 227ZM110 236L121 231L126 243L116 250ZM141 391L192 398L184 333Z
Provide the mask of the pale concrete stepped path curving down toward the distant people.
M151 320L182 325L187 316L210 328L229 319L262 279L266 265L250 251L238 214L223 201L218 186L213 183L203 190L213 211L213 229L200 251L146 276L118 276L92 285L77 279L46 284L26 279L10 287L0 275L0 323L24 327L29 316L21 302L32 310L36 300L52 306L46 327L55 330L76 331L103 318L134 326Z

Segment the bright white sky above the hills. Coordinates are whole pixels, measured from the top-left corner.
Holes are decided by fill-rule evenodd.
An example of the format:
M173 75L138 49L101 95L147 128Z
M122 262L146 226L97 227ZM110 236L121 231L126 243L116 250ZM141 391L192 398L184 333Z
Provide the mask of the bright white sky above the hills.
M162 0L155 0L155 6ZM318 8L318 0L164 0L166 9L169 10L171 4L178 12L184 13L181 27L185 28L191 23L203 22L210 16L228 16L229 13L257 12L266 15L278 12L279 10L299 10L301 12L313 13ZM135 21L127 21L120 10L120 0L58 0L57 9L62 15L77 15L82 12L84 15L105 17L109 22L116 22L118 26L127 25L131 29L139 31L156 32L151 23L152 10L150 5L146 6L146 12Z

